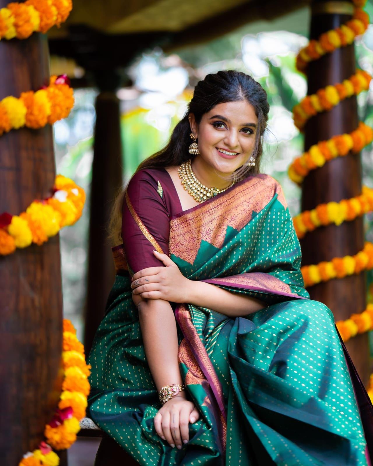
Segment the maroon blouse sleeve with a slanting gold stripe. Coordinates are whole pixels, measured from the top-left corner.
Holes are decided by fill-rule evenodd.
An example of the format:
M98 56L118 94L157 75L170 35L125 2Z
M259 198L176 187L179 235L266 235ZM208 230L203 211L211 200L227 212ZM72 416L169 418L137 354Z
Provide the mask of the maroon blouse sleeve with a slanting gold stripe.
M163 262L153 249L168 255L170 216L159 180L147 171L131 178L124 196L122 238L128 270L135 274Z

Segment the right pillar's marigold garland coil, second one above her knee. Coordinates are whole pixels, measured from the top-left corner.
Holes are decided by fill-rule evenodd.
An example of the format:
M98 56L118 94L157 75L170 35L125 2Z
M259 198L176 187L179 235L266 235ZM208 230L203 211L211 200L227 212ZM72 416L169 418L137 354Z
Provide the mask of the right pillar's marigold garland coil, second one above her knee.
M303 238L307 232L315 230L318 226L351 221L373 210L373 189L363 186L363 192L351 199L342 199L339 202L319 204L312 210L306 210L293 217L294 228L298 238Z

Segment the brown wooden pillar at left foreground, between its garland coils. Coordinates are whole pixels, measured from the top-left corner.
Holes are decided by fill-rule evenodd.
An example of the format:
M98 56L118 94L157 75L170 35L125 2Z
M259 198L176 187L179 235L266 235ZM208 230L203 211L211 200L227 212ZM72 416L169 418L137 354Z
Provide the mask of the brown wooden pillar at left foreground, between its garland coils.
M0 0L0 8L8 2ZM42 34L0 41L0 99L49 83ZM52 127L0 137L0 213L19 214L50 195ZM0 458L17 466L44 439L61 394L62 294L59 236L0 257Z

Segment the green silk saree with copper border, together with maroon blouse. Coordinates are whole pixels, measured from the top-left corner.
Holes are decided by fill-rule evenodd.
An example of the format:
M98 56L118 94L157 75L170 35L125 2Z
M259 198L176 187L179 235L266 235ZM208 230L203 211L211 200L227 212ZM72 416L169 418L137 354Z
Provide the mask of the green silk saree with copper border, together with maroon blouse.
M122 233L88 361L97 425L140 465L371 466L372 404L332 311L304 289L299 241L274 178L246 178L182 211L166 170L138 171ZM200 411L181 450L154 430L160 404L131 298L131 275L162 265L153 249L190 280L268 305L230 318L171 303L180 372Z

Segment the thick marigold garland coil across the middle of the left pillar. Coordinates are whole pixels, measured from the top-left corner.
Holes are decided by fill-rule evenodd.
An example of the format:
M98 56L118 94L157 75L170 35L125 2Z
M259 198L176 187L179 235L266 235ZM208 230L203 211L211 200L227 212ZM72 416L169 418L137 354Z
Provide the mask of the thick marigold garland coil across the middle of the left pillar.
M53 195L34 200L20 215L0 215L0 255L12 254L17 247L31 243L41 245L57 234L63 226L73 225L82 215L84 190L62 175L55 177ZM67 344L67 343L66 343ZM76 349L82 351L82 346Z

